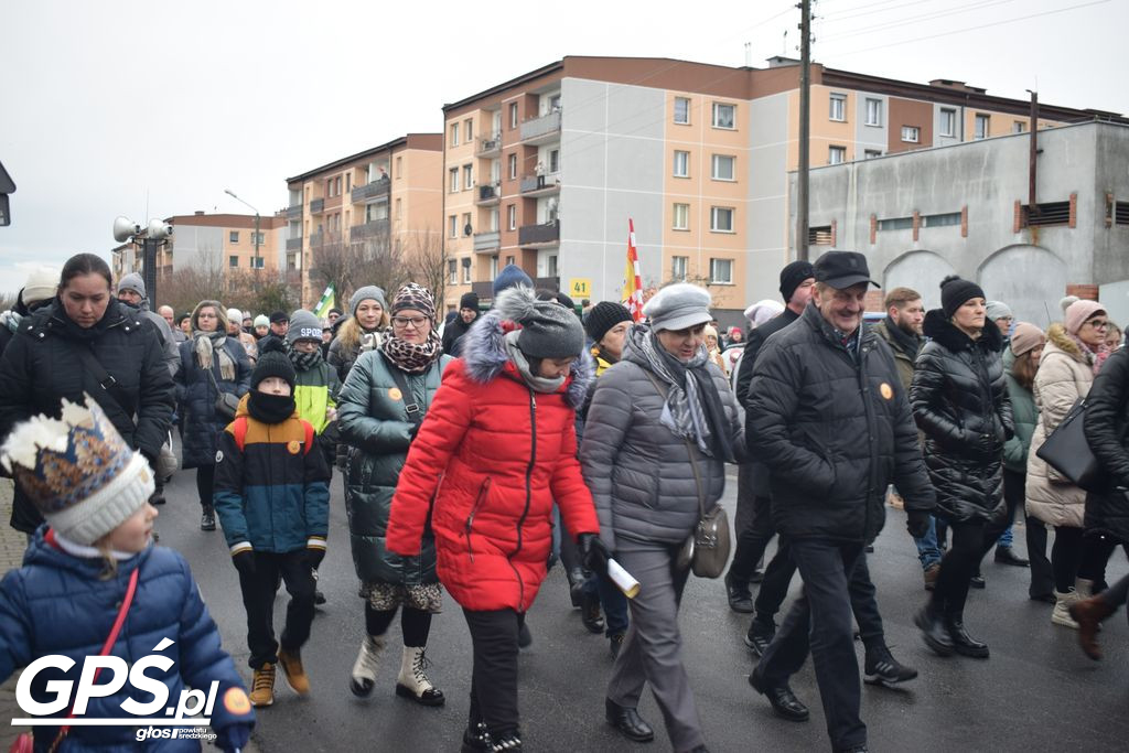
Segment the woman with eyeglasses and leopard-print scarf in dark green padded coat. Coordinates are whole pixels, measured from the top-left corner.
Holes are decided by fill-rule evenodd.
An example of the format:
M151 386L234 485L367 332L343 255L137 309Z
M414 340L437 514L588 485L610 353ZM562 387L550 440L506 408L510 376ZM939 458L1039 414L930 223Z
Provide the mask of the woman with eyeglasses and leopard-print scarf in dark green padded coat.
M392 301L392 327L379 348L360 354L338 399L341 438L349 445L349 542L365 599L365 638L350 682L356 695L373 692L399 610L404 649L396 694L423 706L445 701L425 658L431 615L443 606L435 540L426 535L418 555L401 557L388 550L386 534L400 471L452 360L435 330L431 294L410 282Z

